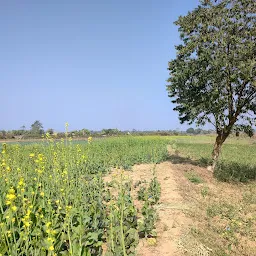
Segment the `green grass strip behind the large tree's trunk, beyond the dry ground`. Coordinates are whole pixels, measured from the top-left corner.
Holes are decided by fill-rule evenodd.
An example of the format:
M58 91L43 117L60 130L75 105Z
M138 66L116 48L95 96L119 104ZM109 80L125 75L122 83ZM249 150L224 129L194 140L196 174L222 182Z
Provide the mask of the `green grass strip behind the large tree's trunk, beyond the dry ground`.
M172 141L172 147L179 152L180 161L194 162L206 167L211 164L211 151L214 138L198 136L178 138ZM230 138L223 145L220 160L214 173L221 181L246 182L256 179L256 143L255 139Z

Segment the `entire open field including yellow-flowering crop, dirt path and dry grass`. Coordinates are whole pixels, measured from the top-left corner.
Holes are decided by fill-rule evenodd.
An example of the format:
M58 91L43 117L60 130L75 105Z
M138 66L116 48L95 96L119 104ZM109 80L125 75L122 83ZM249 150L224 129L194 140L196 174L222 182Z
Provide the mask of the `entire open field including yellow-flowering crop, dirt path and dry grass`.
M3 144L0 255L255 255L255 140L227 141L217 179L213 142Z

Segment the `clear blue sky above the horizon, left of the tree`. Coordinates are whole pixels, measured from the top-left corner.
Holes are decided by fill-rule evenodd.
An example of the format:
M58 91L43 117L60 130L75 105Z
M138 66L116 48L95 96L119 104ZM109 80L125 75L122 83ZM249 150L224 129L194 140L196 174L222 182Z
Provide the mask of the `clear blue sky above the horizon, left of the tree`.
M0 3L0 129L186 129L167 97L179 15L199 0Z

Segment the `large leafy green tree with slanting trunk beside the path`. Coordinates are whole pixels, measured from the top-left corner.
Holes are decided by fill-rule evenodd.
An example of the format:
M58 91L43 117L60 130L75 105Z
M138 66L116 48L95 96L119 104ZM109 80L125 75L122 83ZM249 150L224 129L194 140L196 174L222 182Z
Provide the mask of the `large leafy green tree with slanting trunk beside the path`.
M255 13L255 0L202 0L175 22L183 43L169 62L168 96L181 123L215 126L213 169L233 126L255 125Z

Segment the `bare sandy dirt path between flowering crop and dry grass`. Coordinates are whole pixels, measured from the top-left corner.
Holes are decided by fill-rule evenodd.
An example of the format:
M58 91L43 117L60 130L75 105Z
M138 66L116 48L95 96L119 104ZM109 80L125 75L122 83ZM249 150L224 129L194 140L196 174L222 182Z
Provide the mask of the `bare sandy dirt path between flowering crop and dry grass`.
M136 182L152 178L154 165L138 165L133 167L131 179ZM175 180L175 171L169 162L156 165L157 179L161 184L161 198L157 205L159 220L157 222L157 242L150 245L146 239L140 241L139 256L176 256L179 252L179 239L185 234L191 223L183 213L186 205L179 194ZM177 177L177 176L176 176Z

